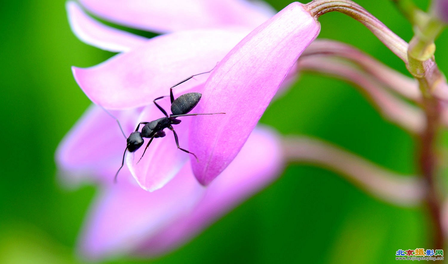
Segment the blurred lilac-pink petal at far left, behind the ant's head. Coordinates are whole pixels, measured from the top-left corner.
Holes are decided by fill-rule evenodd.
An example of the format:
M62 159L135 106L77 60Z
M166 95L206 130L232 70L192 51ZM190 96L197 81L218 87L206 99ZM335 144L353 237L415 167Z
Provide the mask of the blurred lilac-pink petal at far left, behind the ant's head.
M120 119L125 132L134 131L138 111L121 111L113 114ZM61 141L56 150L56 162L63 172L70 172L64 179L69 183L79 183L92 177L112 183L125 148L126 139L116 121L100 107L90 106Z

